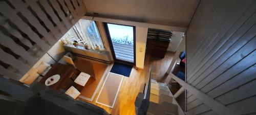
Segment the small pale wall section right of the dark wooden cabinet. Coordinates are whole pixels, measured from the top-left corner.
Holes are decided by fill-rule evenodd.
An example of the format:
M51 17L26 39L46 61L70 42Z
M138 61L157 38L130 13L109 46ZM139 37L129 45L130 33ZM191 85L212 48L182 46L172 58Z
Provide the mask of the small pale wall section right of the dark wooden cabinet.
M184 35L184 32L175 32L173 31L173 36L172 36L172 39L170 41L170 44L168 46L168 51L172 51L172 52L176 52L179 45L180 45L180 42L182 40L182 37Z

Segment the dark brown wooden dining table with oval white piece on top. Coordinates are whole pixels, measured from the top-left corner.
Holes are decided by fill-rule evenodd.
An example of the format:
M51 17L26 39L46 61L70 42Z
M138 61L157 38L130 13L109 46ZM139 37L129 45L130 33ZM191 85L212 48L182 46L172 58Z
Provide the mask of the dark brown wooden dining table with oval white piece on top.
M40 83L45 84L45 81L49 77L56 74L60 76L59 81L49 87L56 90L60 90L60 89L67 90L70 86L76 85L74 80L80 74L80 72L71 65L55 63L52 66L52 68L49 70L49 72L40 80Z

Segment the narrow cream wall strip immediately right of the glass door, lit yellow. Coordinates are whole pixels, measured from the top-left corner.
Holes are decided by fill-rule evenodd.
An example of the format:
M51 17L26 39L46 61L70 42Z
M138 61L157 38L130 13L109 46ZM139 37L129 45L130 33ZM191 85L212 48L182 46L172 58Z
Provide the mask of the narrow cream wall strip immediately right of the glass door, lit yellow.
M144 68L147 28L136 27L136 66Z

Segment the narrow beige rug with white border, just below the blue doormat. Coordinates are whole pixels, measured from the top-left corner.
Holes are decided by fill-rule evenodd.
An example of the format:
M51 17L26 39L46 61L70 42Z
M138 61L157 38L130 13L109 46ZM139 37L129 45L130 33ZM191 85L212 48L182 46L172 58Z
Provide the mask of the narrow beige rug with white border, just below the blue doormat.
M123 75L110 72L100 89L96 103L113 108L122 80Z

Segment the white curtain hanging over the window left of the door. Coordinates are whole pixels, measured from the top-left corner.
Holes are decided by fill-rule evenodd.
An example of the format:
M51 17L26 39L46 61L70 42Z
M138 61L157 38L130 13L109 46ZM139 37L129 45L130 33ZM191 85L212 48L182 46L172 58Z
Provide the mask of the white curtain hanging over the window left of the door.
M96 23L91 20L80 19L62 38L65 44L72 44L74 40L87 44L89 49L104 50Z

